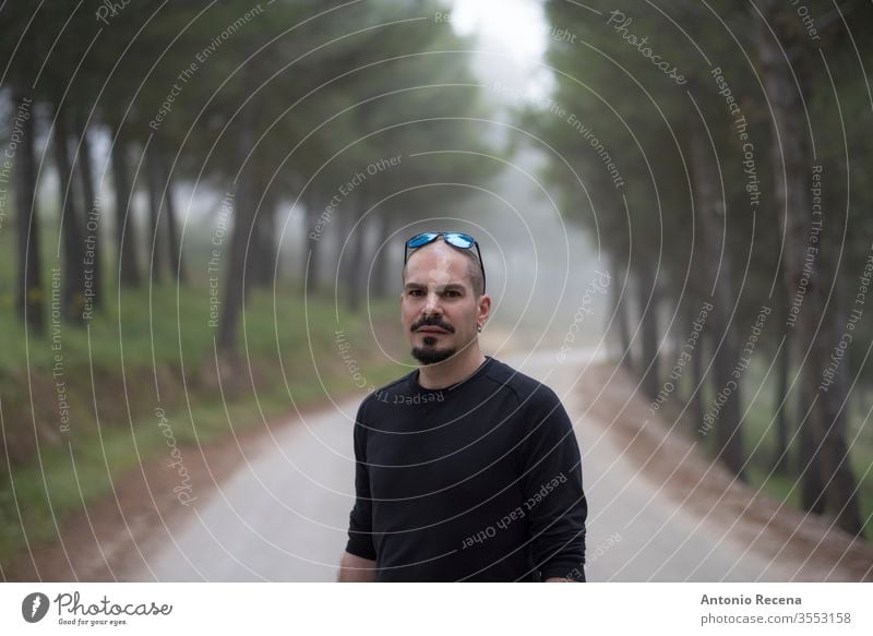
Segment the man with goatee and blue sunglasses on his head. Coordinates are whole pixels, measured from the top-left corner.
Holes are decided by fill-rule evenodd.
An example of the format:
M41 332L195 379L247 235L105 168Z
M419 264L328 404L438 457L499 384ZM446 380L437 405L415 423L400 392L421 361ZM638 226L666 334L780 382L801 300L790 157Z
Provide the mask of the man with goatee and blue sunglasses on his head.
M358 410L339 580L585 580L573 428L550 388L482 355L478 243L423 232L404 261L402 321L420 367Z

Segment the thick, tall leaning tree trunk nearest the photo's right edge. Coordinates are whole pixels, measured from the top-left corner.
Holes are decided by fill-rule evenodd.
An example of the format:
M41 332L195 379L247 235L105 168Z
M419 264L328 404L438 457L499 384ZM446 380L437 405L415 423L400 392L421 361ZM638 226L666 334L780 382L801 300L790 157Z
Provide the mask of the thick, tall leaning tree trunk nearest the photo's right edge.
M812 412L805 425L812 428L812 441L820 448L821 488L823 489L825 505L836 517L837 525L852 535L860 535L863 528L856 480L852 475L848 445L846 444L844 421L841 415L842 386L840 374L845 369L838 369L836 381L830 387L822 387L820 383L822 372L830 363L830 352L840 341L842 325L828 321L826 278L821 272L813 272L804 276L803 265L811 247L810 229L822 228L821 216L810 219L811 201L806 188L810 181L812 154L806 140L806 129L803 119L802 96L793 84L793 74L789 72L782 58L782 50L794 51L790 60L791 67L801 79L801 82L811 91L814 84L806 80L810 65L817 61L813 49L806 50L800 38L803 34L790 27L780 27L791 24L789 20L796 19L790 8L786 9L776 0L762 0L760 3L764 19L770 26L775 26L780 39L770 34L769 28L756 16L756 46L764 70L764 84L773 108L774 128L778 132L777 139L782 146L774 144L773 163L776 182L774 188L773 206L777 211L779 227L786 228L785 250L782 252L785 265L785 281L789 297L793 297L801 278L806 278L809 285L803 297L803 305L798 314L794 331L799 344L799 351L804 351L803 362L803 391L812 396ZM753 13L754 15L754 13ZM806 56L806 57L804 57ZM820 236L828 237L833 231L825 228ZM823 259L828 257L830 250L838 249L827 238L823 239L820 250ZM834 259L835 261L835 259ZM840 312L832 312L837 319ZM822 333L815 336L821 325ZM801 355L799 360L804 360ZM846 362L844 361L844 367ZM817 497L816 497L817 500Z

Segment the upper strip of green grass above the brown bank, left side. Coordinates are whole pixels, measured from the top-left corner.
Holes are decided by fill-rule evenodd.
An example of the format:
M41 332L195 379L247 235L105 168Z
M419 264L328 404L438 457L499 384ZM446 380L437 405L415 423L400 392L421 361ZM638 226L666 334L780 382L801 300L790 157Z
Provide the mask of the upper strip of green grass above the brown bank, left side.
M75 322L60 324L60 345L64 369L88 369L88 353L96 368L152 365L200 360L212 356L213 339L217 329L208 325L208 289L205 283L193 283L183 288L177 301L174 285L164 284L153 289L124 290L120 300L107 298L105 310L88 323L88 328ZM339 321L333 304L326 299L310 301L304 308L297 290L279 288L282 296L275 301L272 293L259 291L247 301L244 338L240 337L240 351L248 346L250 352L285 355L314 349L333 341L333 328L344 325L348 332L360 325L360 317L340 312ZM395 303L396 304L396 303ZM274 307L275 305L275 307ZM274 320L275 311L275 320ZM178 313L178 315L177 315ZM242 322L241 316L240 322ZM366 320L366 317L364 317ZM0 358L0 376L14 374L22 369L47 370L51 368L56 350L51 348L51 332L40 337L33 332L25 338L24 328L11 307L0 308L0 329L10 335ZM364 333L363 329L358 329ZM240 332L240 336L242 333Z

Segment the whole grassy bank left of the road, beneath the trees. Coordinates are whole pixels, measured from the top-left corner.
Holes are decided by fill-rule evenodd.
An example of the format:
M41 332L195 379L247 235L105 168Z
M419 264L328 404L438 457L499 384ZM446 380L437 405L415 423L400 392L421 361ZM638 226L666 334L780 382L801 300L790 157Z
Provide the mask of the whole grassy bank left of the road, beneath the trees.
M219 389L205 276L194 276L178 293L169 283L120 295L107 285L105 305L88 328L63 322L60 349L52 349L50 329L25 336L13 310L12 235L11 227L0 233L0 415L5 452L13 458L9 467L0 454L0 564L24 550L25 532L31 543L52 540L52 515L62 524L81 513L83 503L111 496L112 484L137 471L140 461L166 456L158 407L184 454L263 425L261 412L270 418L355 393L337 348L338 328L368 383L379 386L405 372L381 353L379 345L395 351L397 343L375 341L366 310L355 315L337 310L332 296L304 300L296 285L279 281L275 299L266 291L249 296L238 356L223 362ZM194 273L195 262L189 260ZM50 277L46 281L50 286ZM396 300L376 302L370 311L376 327L398 322ZM51 376L58 353L72 410L65 433Z

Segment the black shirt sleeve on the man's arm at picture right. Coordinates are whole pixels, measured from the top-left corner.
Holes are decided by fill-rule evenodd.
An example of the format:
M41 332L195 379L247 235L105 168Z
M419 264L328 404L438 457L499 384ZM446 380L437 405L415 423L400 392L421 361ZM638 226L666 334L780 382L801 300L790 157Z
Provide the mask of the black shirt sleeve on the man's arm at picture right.
M561 400L545 385L527 405L526 436L519 446L521 484L534 565L541 580L585 580L585 520L582 457Z

